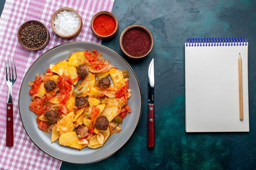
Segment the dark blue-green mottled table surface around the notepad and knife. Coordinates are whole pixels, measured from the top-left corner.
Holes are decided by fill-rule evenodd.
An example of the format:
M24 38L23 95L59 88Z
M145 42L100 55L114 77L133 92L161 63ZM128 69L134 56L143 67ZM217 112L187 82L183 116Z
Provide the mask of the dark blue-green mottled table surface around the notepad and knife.
M0 2L0 5L3 1ZM128 61L143 94L141 121L117 153L84 165L61 169L255 169L256 167L256 1L255 0L116 0L112 13L119 33L103 45ZM129 25L146 26L155 39L150 55L129 59L119 47ZM249 133L186 133L184 43L195 37L246 37L249 42ZM147 73L155 59L155 148L147 143Z

